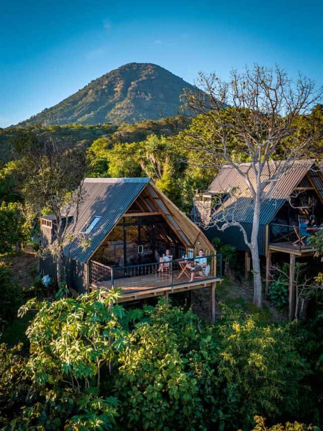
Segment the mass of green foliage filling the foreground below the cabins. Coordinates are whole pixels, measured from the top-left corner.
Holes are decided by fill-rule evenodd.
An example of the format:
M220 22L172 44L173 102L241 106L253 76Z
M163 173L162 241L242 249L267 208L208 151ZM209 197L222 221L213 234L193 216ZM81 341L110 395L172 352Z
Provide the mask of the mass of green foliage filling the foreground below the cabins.
M13 375L3 347L5 429L247 431L256 414L297 414L306 365L289 326L260 326L228 309L217 326L202 325L163 301L126 311L113 305L117 295L31 300L20 309L38 313L27 331L30 356L17 356Z

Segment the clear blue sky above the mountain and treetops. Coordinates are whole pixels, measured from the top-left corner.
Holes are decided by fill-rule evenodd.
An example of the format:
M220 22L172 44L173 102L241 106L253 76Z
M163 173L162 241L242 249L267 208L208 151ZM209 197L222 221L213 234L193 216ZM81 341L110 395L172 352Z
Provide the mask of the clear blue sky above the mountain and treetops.
M0 127L130 62L197 72L275 63L323 84L321 2L12 0L0 13Z

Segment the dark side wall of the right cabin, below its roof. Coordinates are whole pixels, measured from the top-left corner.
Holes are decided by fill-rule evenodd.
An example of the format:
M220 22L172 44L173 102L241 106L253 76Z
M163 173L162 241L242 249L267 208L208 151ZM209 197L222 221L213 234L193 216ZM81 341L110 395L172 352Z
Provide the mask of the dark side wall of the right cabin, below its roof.
M248 240L250 241L251 237L251 230L252 225L251 223L241 223L242 226L245 228L248 236ZM212 241L214 237L218 237L222 240L225 244L230 244L231 246L234 246L239 251L249 251L248 247L246 246L243 234L240 231L239 227L233 226L228 227L226 230L218 230L215 226L210 227L209 229L203 229L205 235L207 236L208 240ZM265 256L266 254L266 226L261 224L259 225L259 233L258 233L258 247L259 247L259 254L261 256Z

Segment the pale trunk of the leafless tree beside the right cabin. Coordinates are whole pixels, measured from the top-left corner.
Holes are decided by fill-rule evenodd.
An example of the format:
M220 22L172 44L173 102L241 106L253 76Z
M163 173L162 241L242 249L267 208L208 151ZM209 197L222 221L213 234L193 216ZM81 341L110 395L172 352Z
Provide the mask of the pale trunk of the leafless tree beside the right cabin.
M258 231L259 231L259 215L260 215L260 194L255 198L254 213L252 222L250 252L252 259L252 273L253 273L253 304L258 308L262 306L262 284L260 273L260 259L258 250Z

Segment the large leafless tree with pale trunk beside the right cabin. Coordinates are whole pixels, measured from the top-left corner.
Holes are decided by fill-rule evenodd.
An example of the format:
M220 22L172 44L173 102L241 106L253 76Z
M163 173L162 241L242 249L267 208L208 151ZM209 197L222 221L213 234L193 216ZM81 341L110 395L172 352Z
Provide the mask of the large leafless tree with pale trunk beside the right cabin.
M188 132L185 147L204 154L205 167L219 168L223 163L233 168L249 190L252 200L252 232L248 238L238 218L218 212L212 223L221 229L238 226L250 249L253 267L253 302L261 307L262 289L258 251L258 230L261 205L274 193L279 178L295 161L304 158L316 139L315 133L295 133L295 120L306 114L320 98L314 82L299 76L294 82L278 66L272 70L255 65L242 74L232 71L230 81L216 75L200 74L199 87L183 96L184 107L197 115L203 114L210 128L207 134ZM306 121L306 117L305 121ZM237 162L237 153L249 161ZM229 195L239 190L225 190ZM233 209L233 208L231 208Z

